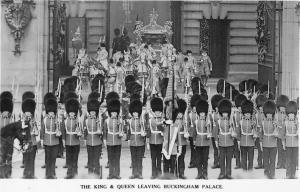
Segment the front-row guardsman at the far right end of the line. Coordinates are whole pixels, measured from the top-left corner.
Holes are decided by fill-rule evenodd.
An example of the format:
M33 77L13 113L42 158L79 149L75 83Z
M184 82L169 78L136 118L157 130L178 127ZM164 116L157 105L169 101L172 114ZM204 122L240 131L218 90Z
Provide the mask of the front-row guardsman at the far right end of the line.
M286 149L286 178L296 179L296 167L299 154L299 121L297 117L298 105L295 101L290 101L286 107L287 118L282 129L283 147Z

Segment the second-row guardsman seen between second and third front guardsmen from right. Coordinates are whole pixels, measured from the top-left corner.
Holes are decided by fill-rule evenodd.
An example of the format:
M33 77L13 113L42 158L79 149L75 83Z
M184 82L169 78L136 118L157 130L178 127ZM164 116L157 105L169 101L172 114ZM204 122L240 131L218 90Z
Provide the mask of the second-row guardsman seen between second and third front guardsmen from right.
M260 94L255 98L256 103L256 110L255 110L255 119L256 119L256 132L261 132L261 122L264 117L263 113L263 106L267 98ZM255 147L257 148L257 166L254 167L255 169L262 169L263 168L263 154L262 154L262 146L260 146L260 137L257 137L255 140Z

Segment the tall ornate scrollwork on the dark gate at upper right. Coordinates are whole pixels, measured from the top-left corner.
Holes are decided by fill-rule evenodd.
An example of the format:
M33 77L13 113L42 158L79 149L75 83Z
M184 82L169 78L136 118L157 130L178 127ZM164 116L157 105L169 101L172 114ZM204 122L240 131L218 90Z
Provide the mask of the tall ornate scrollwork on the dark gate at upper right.
M264 63L268 44L270 40L270 32L266 26L265 17L267 13L266 2L260 1L257 5L257 19L256 19L256 30L257 36L255 37L256 43L258 45L258 62Z

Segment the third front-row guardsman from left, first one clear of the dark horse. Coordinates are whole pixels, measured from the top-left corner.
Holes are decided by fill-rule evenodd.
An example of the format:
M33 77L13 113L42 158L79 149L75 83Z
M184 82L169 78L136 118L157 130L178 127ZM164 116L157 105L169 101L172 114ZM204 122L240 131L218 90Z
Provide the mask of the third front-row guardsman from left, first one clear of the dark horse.
M46 179L56 179L55 163L59 149L61 122L57 116L56 99L47 99L44 103L46 115L42 121L41 146L45 148Z

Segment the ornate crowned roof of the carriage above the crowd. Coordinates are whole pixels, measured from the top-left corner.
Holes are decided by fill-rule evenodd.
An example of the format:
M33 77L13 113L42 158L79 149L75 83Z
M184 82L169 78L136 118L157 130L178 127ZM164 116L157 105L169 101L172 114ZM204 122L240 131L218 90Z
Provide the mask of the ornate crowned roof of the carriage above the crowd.
M167 38L171 37L172 32L172 21L166 21L164 26L157 24L158 14L153 8L152 12L149 14L150 23L146 26L143 25L142 21L136 21L136 29L134 30L134 34L137 36L137 41L142 40L142 36L145 34L161 34L166 35Z

